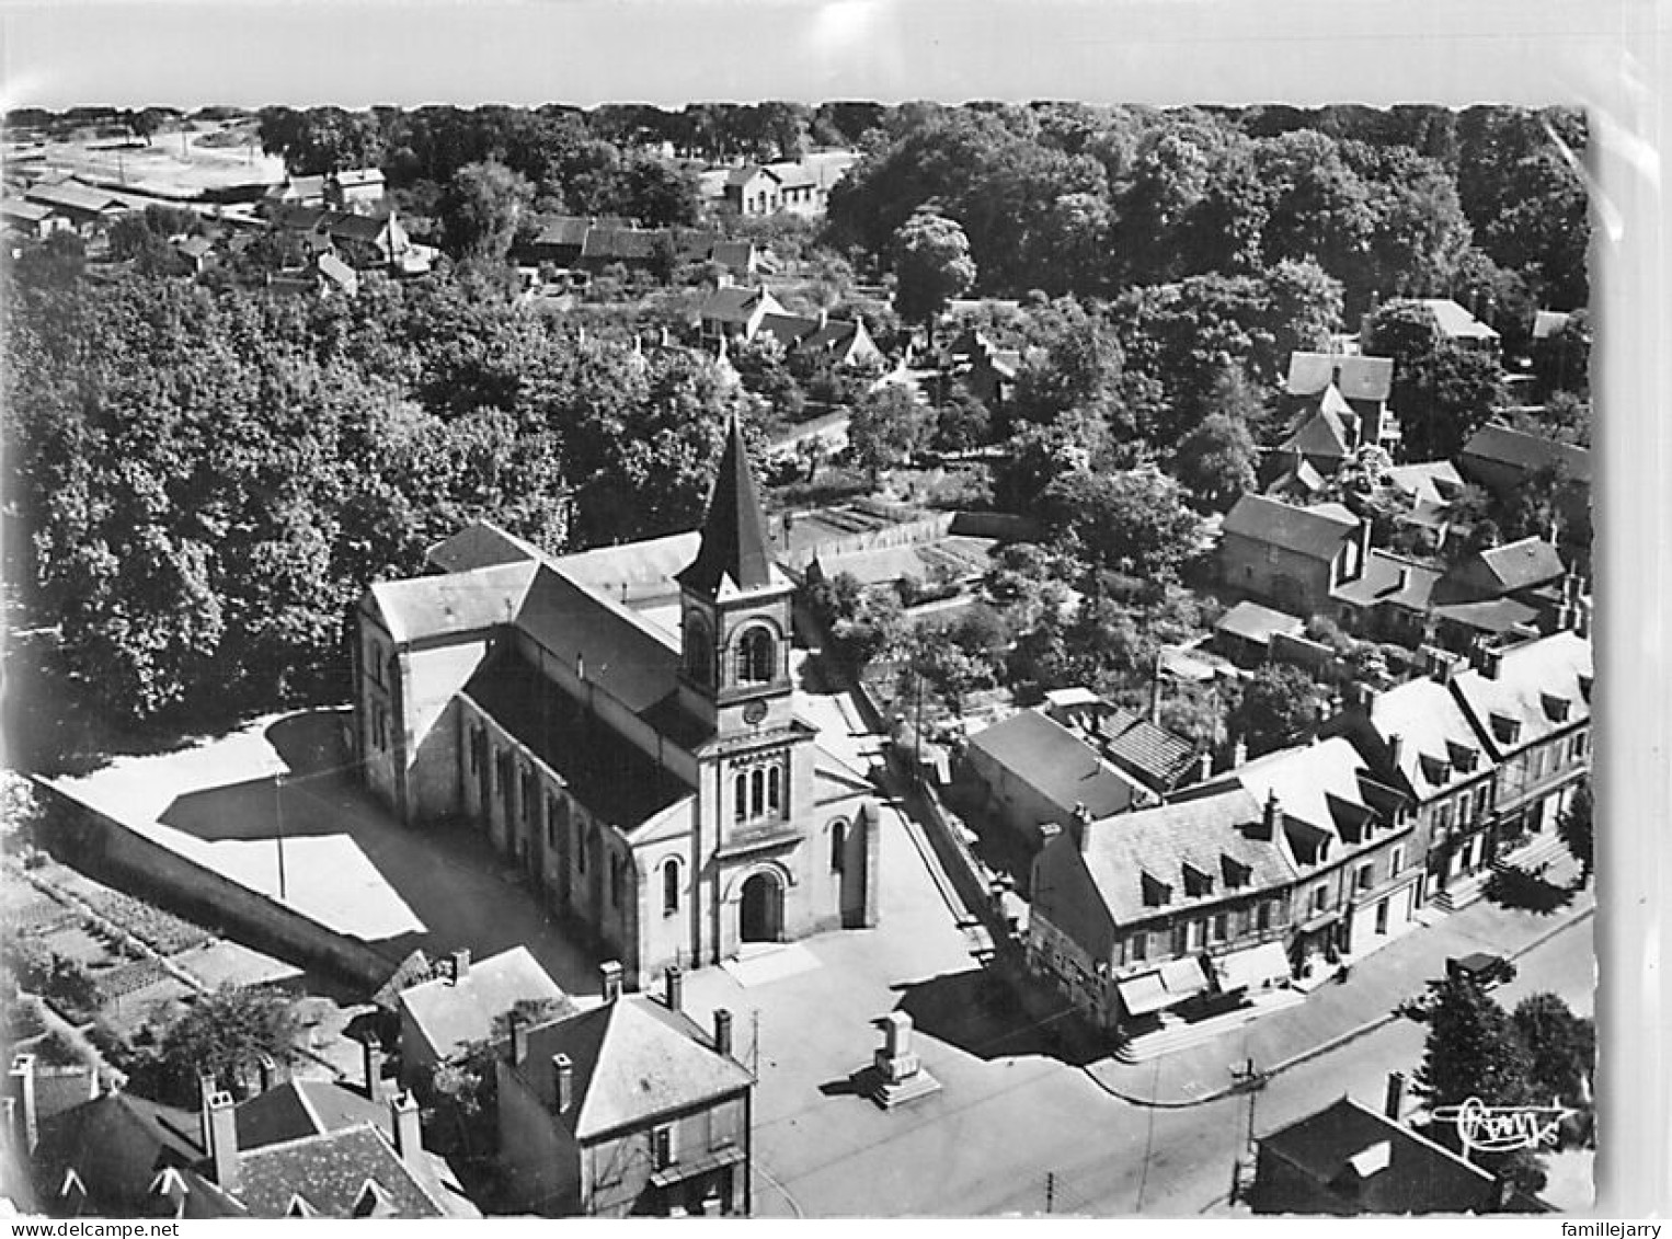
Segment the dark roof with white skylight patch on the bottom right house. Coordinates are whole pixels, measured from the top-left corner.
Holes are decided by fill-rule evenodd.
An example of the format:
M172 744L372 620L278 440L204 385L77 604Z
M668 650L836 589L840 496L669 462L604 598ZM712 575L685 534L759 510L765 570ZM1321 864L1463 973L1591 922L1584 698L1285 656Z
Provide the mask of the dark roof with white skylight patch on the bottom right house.
M1259 1145L1353 1212L1470 1212L1495 1202L1491 1174L1349 1097L1259 1137Z

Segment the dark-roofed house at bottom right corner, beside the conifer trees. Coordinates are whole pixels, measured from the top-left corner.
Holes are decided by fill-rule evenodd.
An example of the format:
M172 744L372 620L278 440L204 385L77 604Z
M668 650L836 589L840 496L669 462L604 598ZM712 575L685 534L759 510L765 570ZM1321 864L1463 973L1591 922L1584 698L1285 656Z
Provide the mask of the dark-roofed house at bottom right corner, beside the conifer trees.
M1256 1214L1491 1214L1525 1211L1508 1182L1396 1119L1343 1097L1256 1137Z

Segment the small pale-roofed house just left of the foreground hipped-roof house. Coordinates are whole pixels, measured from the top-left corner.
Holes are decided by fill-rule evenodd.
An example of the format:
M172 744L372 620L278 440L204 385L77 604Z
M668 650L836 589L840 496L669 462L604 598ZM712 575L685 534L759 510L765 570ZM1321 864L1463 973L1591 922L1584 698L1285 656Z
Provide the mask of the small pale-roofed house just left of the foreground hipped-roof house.
M527 946L472 961L470 951L443 960L440 976L400 992L401 1080L421 1087L436 1063L495 1037L497 1022L520 1003L538 1003L553 1013L573 1012L568 995L540 966Z

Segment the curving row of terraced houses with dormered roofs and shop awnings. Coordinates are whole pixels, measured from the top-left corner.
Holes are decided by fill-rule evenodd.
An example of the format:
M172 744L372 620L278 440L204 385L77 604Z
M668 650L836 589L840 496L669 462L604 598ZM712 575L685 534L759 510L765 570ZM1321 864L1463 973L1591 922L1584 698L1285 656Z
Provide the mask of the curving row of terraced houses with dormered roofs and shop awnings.
M1104 1030L1244 1005L1537 866L1590 769L1592 650L1563 629L1356 692L1309 744L1159 804L1043 823L1028 961Z

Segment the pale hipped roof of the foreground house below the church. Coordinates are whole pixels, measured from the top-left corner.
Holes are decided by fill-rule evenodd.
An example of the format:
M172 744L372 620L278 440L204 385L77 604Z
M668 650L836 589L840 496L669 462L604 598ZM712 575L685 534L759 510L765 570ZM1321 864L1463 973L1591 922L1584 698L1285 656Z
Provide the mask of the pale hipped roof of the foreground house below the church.
M528 1032L528 1057L512 1072L547 1112L555 1112L558 1053L573 1063L573 1105L562 1122L579 1140L642 1127L754 1083L741 1063L711 1048L696 1023L647 998L617 998Z

